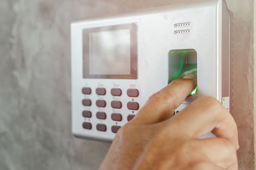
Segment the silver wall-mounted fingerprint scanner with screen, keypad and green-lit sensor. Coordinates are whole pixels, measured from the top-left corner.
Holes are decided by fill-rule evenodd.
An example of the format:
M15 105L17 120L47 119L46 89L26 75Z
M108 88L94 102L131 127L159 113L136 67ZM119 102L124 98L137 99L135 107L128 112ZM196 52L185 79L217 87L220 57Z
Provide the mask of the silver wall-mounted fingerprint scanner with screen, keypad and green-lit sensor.
M197 74L198 87L176 112L200 96L215 97L229 110L230 15L225 1L74 22L71 46L74 136L112 141L148 97L188 73Z

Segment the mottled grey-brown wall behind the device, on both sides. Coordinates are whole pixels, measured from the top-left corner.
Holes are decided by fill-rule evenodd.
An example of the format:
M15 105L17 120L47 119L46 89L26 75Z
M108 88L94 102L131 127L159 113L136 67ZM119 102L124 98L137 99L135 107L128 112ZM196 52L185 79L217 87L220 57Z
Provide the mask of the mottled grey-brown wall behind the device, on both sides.
M97 169L109 143L74 138L70 22L188 0L1 0L0 169ZM253 0L228 0L239 169L254 169Z

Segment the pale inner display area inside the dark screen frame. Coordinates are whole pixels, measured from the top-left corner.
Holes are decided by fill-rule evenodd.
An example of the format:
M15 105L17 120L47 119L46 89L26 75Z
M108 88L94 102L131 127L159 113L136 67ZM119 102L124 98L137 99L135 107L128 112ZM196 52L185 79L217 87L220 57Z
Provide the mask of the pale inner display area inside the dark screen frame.
M89 34L90 74L130 74L130 30Z

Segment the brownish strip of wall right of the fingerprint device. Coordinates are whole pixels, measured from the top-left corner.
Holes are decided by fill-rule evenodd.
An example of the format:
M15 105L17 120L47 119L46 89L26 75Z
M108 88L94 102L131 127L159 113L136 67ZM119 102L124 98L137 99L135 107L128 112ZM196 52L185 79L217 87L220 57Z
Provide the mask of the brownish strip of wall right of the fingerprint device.
M228 1L232 19L232 115L239 130L240 169L255 169L253 1Z

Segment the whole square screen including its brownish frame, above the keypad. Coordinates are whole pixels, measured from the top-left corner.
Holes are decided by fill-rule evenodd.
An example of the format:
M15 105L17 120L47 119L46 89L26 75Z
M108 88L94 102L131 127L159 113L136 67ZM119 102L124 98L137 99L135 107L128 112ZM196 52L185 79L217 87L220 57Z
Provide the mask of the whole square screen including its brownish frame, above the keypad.
M84 78L137 78L135 24L84 30Z

